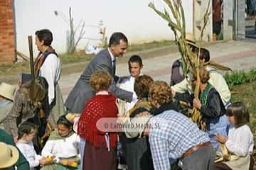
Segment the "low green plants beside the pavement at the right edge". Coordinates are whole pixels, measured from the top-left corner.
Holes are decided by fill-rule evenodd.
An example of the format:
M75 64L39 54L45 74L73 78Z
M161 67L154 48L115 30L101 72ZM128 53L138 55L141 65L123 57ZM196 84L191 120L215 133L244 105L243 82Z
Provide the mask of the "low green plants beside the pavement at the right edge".
M231 90L234 86L250 83L256 81L256 68L250 69L249 72L239 71L232 74L225 74L225 80Z

